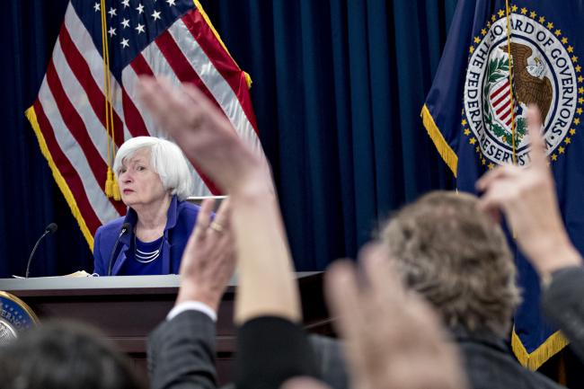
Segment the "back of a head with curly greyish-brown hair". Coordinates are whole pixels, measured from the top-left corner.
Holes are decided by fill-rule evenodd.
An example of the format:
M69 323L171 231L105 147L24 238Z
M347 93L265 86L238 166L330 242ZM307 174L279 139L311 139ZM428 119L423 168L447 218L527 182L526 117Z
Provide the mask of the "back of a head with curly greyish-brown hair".
M445 324L505 335L519 301L516 269L499 225L474 196L431 192L401 209L381 239L406 284Z

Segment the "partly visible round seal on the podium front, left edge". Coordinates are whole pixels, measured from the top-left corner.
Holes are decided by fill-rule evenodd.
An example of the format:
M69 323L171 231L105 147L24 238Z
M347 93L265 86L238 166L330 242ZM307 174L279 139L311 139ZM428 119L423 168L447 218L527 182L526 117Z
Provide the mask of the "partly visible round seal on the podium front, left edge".
M31 307L10 293L0 292L0 346L18 336L18 332L39 323L39 318Z

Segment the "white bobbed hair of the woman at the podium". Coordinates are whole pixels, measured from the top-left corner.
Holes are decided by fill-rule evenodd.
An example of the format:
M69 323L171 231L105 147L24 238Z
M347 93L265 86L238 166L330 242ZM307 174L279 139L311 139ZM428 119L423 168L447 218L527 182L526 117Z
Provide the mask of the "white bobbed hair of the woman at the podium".
M186 157L179 146L160 137L132 137L124 142L113 162L116 176L124 159L131 158L142 149L150 150L150 165L160 177L165 190L170 190L180 200L192 194L193 182Z

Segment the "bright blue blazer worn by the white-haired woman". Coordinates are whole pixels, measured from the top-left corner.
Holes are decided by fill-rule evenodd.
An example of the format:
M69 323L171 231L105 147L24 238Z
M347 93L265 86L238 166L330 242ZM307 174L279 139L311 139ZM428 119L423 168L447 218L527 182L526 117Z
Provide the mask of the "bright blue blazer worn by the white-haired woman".
M164 244L162 252L163 274L179 274L181 257L189 240L190 233L197 221L199 207L187 201L179 201L173 196L166 214L164 227ZM134 239L134 227L137 222L136 211L128 208L126 217L119 217L106 225L102 225L95 233L93 243L93 272L100 276L108 275L108 266L113 245L118 239L119 231L124 223L131 225L128 233L119 239L118 248L111 264L111 275L116 276L126 261L126 252Z

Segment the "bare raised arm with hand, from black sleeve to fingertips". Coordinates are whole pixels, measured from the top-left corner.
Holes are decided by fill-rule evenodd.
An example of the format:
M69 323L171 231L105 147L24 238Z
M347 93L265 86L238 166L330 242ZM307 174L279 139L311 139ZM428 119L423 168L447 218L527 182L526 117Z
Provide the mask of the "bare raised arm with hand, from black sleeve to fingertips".
M290 276L294 269L268 165L243 145L223 113L194 86L173 87L146 77L140 89L152 116L185 155L230 194L240 264L235 321L260 315L299 321L299 296Z

